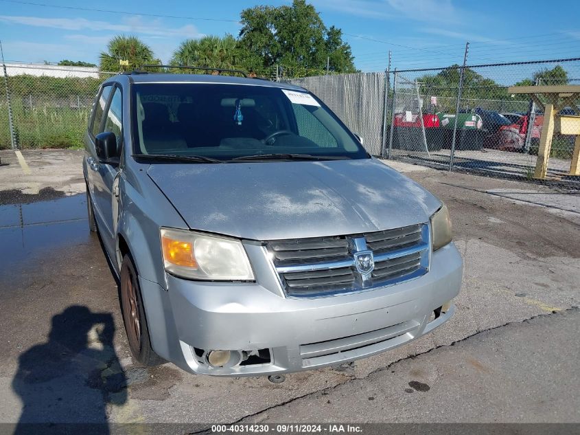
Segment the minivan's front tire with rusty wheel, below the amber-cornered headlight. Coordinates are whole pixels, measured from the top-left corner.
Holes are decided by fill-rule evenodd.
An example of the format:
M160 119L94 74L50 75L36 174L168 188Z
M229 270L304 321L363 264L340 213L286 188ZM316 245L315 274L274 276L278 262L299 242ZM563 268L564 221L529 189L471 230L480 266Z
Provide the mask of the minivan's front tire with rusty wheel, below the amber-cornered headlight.
M143 309L139 275L130 257L126 254L121 263L121 312L131 353L143 366L159 366L165 361L151 347L149 328Z

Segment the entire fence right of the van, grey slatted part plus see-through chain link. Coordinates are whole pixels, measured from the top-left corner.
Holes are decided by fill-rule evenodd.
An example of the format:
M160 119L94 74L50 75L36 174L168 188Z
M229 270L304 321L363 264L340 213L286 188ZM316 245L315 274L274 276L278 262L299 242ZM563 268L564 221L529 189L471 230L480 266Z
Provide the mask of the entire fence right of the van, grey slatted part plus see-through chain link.
M555 68L566 77L546 73ZM580 85L580 59L395 70L387 76L330 74L288 82L321 98L364 138L373 155L580 188L579 140L570 133L576 128L573 116L580 115L580 95L541 93L535 101L529 93L509 91L514 85ZM550 102L557 110L548 146L540 140Z

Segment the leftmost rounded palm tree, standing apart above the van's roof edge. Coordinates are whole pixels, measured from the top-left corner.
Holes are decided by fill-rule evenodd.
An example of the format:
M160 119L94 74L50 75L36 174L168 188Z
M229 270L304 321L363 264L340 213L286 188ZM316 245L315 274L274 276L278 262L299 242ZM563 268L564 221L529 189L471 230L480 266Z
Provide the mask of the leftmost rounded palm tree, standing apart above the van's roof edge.
M99 57L101 71L130 71L141 65L161 65L153 50L136 36L115 36ZM129 65L120 65L119 60L127 60Z

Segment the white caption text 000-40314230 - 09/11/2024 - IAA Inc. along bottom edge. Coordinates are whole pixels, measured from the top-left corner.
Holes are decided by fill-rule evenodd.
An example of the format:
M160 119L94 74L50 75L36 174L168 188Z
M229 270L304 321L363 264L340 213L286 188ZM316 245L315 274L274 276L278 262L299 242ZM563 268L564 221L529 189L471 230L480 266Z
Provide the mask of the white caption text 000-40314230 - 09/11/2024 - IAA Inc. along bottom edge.
M360 433L362 432L362 427L358 425L341 425L341 424L299 424L299 423L286 423L270 425L266 424L235 424L235 425L213 425L211 426L212 433L268 433L272 432L274 434L309 434L309 433L323 433L327 432L333 433Z

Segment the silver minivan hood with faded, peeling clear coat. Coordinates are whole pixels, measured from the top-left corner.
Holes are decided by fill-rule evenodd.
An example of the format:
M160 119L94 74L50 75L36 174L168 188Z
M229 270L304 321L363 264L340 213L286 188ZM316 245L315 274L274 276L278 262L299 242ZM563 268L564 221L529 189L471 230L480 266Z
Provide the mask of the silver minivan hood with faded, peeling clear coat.
M440 201L377 159L152 164L192 230L259 241L427 222Z

